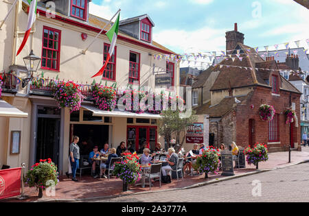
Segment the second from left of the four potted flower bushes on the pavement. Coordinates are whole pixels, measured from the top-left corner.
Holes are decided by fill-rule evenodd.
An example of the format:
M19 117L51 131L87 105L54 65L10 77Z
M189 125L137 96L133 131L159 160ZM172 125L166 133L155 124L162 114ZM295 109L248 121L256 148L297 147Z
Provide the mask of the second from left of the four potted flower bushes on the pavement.
M135 184L141 177L141 167L137 154L126 153L122 162L115 163L113 174L123 182L123 191L128 191L129 184Z

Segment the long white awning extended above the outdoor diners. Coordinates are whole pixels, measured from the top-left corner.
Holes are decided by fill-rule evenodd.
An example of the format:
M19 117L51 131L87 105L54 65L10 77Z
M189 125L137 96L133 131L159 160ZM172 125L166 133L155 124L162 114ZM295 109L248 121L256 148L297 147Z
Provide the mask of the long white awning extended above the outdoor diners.
M126 118L139 118L139 119L161 119L160 115L150 114L148 112L137 114L137 113L128 112L128 111L121 111L118 109L115 109L113 111L104 111L104 110L95 108L95 106L90 106L90 105L82 105L82 108L85 108L86 110L93 112L94 117L126 117Z

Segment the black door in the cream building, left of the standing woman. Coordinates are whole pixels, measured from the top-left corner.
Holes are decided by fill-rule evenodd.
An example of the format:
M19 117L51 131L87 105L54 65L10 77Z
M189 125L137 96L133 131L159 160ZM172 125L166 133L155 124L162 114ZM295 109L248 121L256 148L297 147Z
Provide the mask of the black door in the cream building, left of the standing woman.
M36 139L36 163L40 159L51 158L59 163L60 119L38 118Z

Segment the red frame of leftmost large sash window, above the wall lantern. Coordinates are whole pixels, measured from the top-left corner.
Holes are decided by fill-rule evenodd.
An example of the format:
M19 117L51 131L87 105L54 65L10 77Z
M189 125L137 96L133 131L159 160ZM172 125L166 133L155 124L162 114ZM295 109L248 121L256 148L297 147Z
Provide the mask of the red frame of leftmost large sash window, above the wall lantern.
M47 38L44 36L45 30L48 31ZM49 38L49 32L53 33L53 38ZM55 40L55 32L58 34L58 40ZM47 40L47 47L44 46L44 40ZM52 43L52 48L49 47L49 43ZM55 48L55 42L58 43L58 49ZM42 60L41 60L41 69L46 69L49 71L58 71L60 70L60 47L61 47L61 31L58 29L54 29L52 27L43 26L43 37L42 37ZM51 54L49 55L49 52ZM54 57L54 52L56 52L56 55ZM49 57L50 56L50 57ZM45 60L45 64L44 63ZM50 67L47 67L48 60L51 61ZM56 61L56 68L54 68L54 61Z

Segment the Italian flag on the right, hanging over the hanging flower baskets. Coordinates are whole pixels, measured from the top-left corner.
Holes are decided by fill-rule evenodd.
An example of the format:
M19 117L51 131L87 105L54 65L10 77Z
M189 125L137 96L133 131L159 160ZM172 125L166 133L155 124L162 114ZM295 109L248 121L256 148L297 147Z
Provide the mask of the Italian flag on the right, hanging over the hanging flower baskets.
M106 36L108 37L108 40L111 42L111 47L109 47L108 55L107 55L105 64L103 65L102 69L100 69L100 71L98 73L93 75L93 77L98 77L100 75L103 75L103 72L106 69L108 62L111 59L111 56L113 55L115 45L116 45L116 41L117 41L117 35L118 35L119 17L120 17L120 13L117 16L117 19L116 19L114 25L111 27L111 29L108 30L108 32L106 32ZM93 77L91 77L91 78L93 78Z

